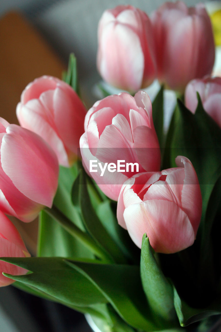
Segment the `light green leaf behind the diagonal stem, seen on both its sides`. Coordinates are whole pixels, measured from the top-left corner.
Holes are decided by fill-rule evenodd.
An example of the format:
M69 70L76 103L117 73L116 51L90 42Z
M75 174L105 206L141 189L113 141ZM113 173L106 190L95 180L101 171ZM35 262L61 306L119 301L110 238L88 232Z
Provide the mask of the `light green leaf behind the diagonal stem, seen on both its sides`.
M85 231L78 211L71 200L71 188L76 176L77 162L71 168L60 166L54 205L77 227ZM37 247L38 256L43 257L94 257L88 248L71 236L52 216L49 216L44 211L39 215Z

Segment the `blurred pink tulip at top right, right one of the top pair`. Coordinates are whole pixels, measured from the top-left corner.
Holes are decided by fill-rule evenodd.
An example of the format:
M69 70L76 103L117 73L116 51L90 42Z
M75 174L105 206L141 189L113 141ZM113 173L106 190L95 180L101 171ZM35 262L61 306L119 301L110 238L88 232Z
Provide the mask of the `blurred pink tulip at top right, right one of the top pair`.
M203 4L187 8L182 1L166 2L152 13L151 21L160 82L183 92L191 79L211 73L214 40Z

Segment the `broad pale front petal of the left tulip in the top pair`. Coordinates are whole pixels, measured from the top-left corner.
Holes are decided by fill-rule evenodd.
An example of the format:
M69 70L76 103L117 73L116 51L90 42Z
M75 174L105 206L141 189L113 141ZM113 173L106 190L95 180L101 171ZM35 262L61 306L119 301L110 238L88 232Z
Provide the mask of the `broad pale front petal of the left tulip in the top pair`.
M117 22L104 26L100 52L98 66L106 81L128 91L140 88L144 56L139 37L131 28Z

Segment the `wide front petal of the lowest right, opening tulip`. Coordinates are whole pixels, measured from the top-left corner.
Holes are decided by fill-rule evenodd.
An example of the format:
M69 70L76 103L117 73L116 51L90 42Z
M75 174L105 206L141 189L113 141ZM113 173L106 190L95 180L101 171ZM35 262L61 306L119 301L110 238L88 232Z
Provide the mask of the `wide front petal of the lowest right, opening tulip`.
M147 233L156 252L174 253L194 242L194 231L186 213L175 203L162 200L133 204L123 213L130 237L141 248Z

